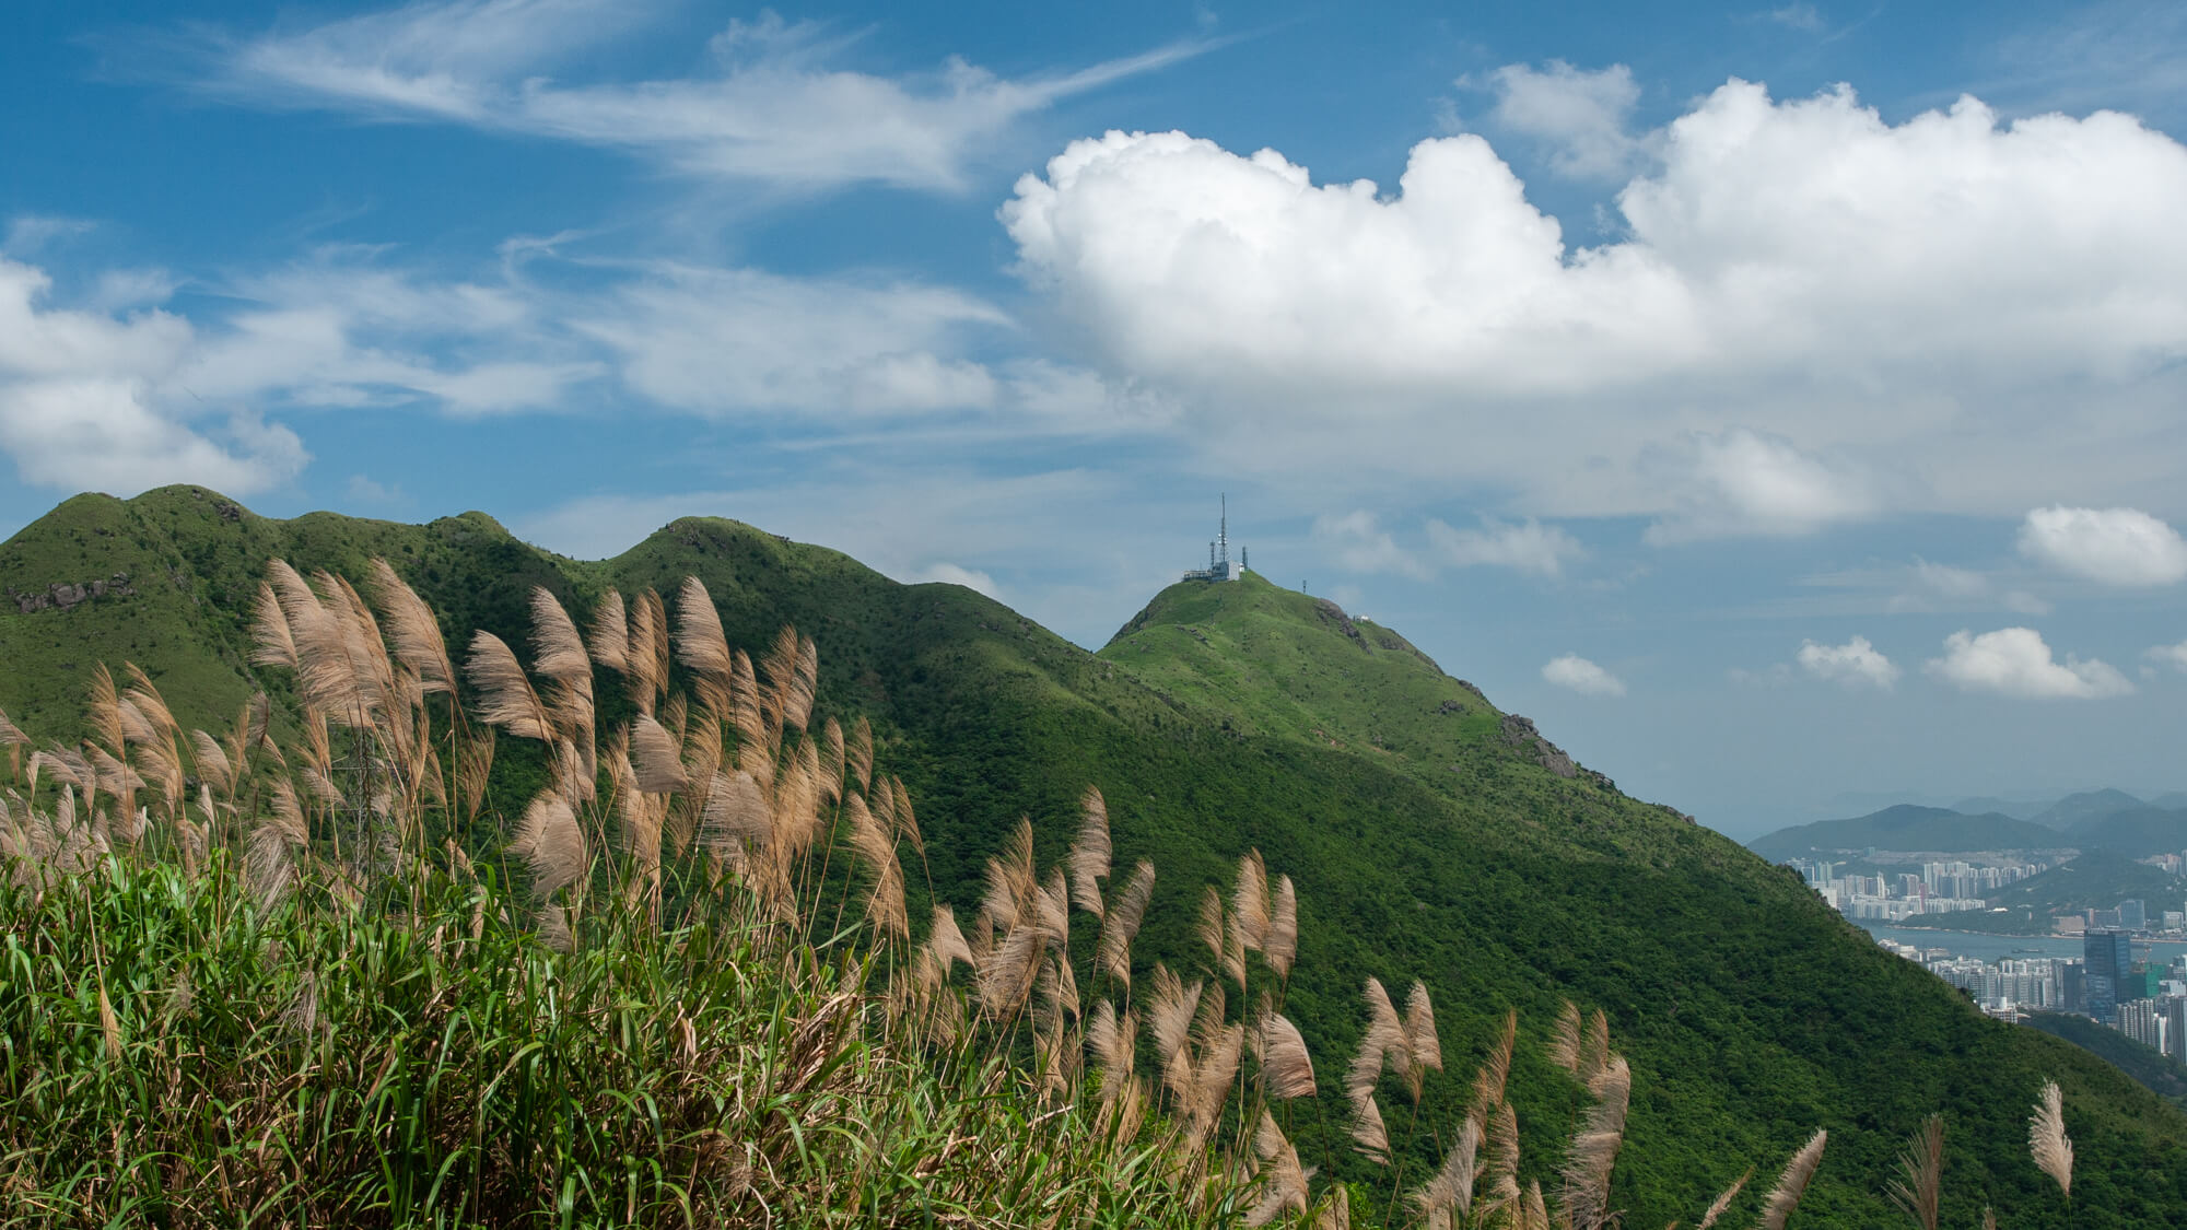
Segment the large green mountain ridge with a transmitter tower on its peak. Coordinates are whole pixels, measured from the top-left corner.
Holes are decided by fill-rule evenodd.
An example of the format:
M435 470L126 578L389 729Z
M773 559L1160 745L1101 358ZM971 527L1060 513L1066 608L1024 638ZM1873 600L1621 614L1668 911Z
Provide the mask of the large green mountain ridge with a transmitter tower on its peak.
M1192 889L1260 847L1299 884L1286 1011L1336 1121L1319 1136L1299 1121L1295 1138L1363 1197L1384 1199L1391 1175L1343 1142L1341 1072L1365 1024L1360 985L1378 976L1426 980L1450 1064L1417 1116L1391 1116L1406 1182L1432 1171L1474 1064L1518 1009L1522 1173L1555 1184L1579 1103L1542 1046L1568 996L1607 1013L1634 1066L1612 1188L1632 1226L1695 1219L1815 1127L1831 1147L1798 1223L1887 1223L1892 1160L1929 1112L1951 1132L1946 1223L1979 1223L1986 1204L2005 1226L2062 1223L2025 1158L2047 1077L2067 1090L2080 1158L2075 1226L2163 1226L2187 1208L2174 1107L2073 1046L1981 1018L1789 871L1621 794L1395 633L1255 576L1170 587L1094 654L967 589L894 584L730 521L685 519L612 560L569 560L475 512L273 521L162 488L72 499L0 547L0 707L68 735L92 665L129 659L184 722L230 718L260 685L247 613L269 556L346 576L385 556L455 643L479 626L523 646L534 584L584 619L608 587L698 576L733 643L763 646L783 622L818 641L822 707L875 722L919 803L938 895L978 900L984 858L1021 814L1052 858L1078 792L1100 786L1120 865L1159 869L1142 959L1196 970ZM1734 1217L1752 1217L1756 1191Z

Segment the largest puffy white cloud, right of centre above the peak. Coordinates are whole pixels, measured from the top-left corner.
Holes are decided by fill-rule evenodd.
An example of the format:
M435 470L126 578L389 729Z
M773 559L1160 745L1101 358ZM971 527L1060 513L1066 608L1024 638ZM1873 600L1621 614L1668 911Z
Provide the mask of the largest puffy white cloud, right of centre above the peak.
M1599 247L1472 134L1419 142L1384 190L1113 131L1002 219L1111 379L1264 473L1494 484L1660 536L2016 514L2036 484L2180 499L2170 136L1975 98L1890 125L1850 90L1730 81L1649 149Z

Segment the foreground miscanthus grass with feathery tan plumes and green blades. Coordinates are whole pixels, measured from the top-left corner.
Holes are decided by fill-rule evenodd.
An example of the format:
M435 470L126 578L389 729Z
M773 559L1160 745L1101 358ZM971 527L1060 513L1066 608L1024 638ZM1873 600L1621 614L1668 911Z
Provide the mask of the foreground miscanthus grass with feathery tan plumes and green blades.
M276 560L254 661L293 722L256 696L184 729L136 668L94 672L74 744L0 716L0 1226L1623 1223L1601 1011L1564 1005L1586 1110L1522 1160L1516 1013L1463 1118L1424 1123L1430 1072L1461 1079L1435 1005L1367 978L1360 1051L1321 1064L1341 1158L1284 1016L1297 889L1258 851L1179 970L1131 952L1155 867L1113 875L1094 788L1061 860L1021 823L951 904L873 729L816 713L811 639L755 661L698 580L582 628L540 589L531 624L529 665L488 633L457 661L385 562L359 591ZM510 742L545 784L496 803ZM1406 1175L1424 1129L1441 1164Z

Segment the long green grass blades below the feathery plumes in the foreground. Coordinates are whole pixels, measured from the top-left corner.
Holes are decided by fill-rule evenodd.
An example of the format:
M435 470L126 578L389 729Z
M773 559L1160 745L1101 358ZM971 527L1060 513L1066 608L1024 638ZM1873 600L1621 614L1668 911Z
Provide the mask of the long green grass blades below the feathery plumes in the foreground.
M418 913L107 860L0 889L7 1226L1198 1226L1155 1147L890 1031L733 902ZM101 996L112 1005L112 1031ZM1214 1210L1220 1219L1225 1206Z

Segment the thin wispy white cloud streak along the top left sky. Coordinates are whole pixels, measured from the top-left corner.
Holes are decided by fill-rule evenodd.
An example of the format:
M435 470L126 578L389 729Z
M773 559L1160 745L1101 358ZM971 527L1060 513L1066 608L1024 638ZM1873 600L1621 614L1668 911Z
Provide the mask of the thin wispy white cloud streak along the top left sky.
M221 39L210 88L269 105L560 138L715 179L958 190L967 162L1021 116L1201 50L1174 44L1017 81L954 57L925 74L877 77L829 68L853 37L770 13L717 35L706 74L593 83L547 74L582 63L584 53L663 9L628 0L413 2L295 33Z

